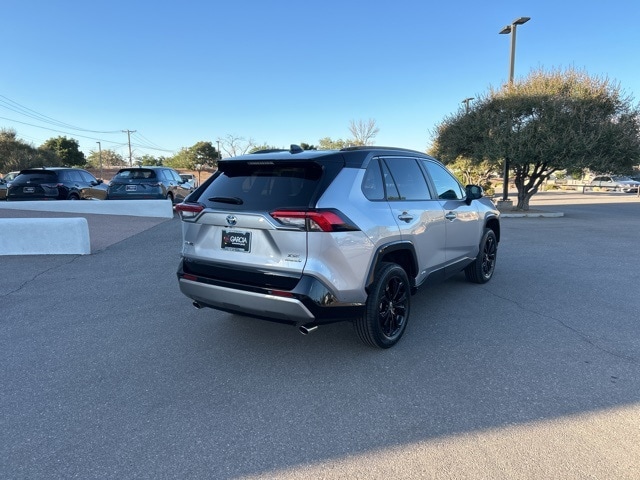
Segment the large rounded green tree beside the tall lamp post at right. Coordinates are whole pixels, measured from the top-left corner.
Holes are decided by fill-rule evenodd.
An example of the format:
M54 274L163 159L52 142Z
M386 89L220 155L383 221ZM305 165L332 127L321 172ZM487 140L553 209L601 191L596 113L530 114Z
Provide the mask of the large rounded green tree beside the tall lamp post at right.
M462 156L508 159L518 189L516 209L557 170L624 172L640 162L640 110L619 85L582 71L532 72L522 81L490 89L468 113L437 127L434 151L445 162Z

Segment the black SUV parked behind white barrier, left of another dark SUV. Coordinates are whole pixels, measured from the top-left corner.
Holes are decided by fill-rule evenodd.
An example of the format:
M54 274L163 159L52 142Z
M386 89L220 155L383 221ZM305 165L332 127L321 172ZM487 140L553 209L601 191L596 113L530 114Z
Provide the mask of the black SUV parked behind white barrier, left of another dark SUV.
M20 170L7 189L7 200L104 200L107 186L81 168Z

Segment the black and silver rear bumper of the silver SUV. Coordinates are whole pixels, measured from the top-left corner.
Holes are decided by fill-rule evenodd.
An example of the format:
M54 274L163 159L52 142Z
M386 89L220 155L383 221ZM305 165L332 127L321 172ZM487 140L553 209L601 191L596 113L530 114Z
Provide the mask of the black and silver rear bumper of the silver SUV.
M185 274L181 266L178 283L199 306L296 326L351 320L364 310L364 304L337 302L325 285L308 276L283 291Z

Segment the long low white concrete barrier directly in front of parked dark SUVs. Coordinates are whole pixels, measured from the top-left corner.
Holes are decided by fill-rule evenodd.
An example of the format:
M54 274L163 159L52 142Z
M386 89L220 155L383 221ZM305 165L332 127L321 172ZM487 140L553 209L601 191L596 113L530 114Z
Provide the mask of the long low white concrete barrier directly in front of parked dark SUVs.
M0 209L173 218L173 205L170 200L0 201Z

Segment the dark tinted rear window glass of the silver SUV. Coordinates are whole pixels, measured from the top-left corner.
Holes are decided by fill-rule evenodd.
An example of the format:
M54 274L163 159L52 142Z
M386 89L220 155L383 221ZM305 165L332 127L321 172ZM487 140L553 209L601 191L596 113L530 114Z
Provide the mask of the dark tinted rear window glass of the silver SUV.
M315 163L226 164L199 200L211 208L308 207L322 178Z

